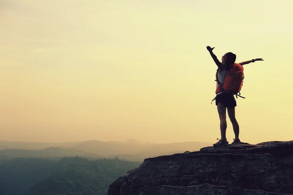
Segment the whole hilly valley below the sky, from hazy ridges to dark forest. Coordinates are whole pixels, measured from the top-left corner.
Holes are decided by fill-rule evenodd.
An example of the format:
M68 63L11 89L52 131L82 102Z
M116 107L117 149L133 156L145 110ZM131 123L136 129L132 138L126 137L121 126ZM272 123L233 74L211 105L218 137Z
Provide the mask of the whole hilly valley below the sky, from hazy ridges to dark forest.
M106 195L109 184L145 158L197 151L211 144L156 144L132 139L0 141L0 195Z

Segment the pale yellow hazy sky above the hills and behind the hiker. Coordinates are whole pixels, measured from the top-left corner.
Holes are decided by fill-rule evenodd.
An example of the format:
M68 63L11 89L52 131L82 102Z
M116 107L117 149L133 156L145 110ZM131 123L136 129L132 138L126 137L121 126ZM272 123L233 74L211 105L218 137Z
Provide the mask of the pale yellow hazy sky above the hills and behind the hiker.
M241 141L293 140L292 7L0 0L0 140L216 142L217 67L208 45L218 59L264 59L244 65Z

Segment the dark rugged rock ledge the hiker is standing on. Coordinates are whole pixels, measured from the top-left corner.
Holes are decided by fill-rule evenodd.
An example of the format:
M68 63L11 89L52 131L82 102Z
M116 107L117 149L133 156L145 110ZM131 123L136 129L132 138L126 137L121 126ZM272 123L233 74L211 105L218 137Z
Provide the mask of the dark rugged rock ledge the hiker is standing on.
M108 195L293 195L293 141L147 158L114 181Z

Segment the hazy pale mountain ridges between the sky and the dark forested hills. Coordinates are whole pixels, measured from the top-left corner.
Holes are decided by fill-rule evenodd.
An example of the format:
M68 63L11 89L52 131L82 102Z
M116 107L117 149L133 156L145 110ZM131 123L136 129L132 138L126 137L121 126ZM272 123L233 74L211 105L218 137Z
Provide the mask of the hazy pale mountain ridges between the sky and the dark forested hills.
M143 161L145 158L198 151L211 146L205 142L148 143L128 139L126 141L98 141L42 143L0 141L0 157L42 157L61 158L64 156L81 156L86 158L115 158Z

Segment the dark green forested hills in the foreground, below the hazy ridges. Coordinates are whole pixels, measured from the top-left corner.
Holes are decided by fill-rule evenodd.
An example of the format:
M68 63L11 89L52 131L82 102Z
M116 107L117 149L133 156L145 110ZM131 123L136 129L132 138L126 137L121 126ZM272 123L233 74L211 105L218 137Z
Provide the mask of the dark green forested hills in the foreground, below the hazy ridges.
M118 158L79 156L0 158L0 195L106 195L110 183L139 165Z

